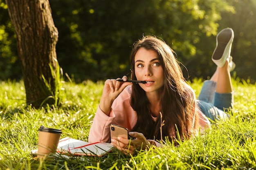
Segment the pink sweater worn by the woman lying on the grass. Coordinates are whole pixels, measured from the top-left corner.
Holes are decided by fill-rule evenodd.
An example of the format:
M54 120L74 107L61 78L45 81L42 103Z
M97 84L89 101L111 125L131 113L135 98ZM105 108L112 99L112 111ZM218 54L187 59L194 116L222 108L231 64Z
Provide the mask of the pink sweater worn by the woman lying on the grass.
M189 88L191 87L189 86ZM129 131L135 126L137 121L137 113L130 106L131 89L131 86L127 86L124 91L122 91L114 100L109 116L103 113L98 106L89 132L88 141L90 143L110 142L110 124L117 124L119 126L128 128ZM197 112L195 113L199 114L201 130L204 130L204 128L210 126L210 121L199 108L196 108L196 110ZM157 142L155 142L155 144L160 146L160 144Z

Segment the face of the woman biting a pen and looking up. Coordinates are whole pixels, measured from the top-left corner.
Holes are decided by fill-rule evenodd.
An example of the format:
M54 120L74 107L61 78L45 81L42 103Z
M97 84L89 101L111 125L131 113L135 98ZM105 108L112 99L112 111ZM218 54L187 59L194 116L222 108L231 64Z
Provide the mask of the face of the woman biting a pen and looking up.
M139 84L146 93L157 92L164 86L164 70L157 53L140 48L135 54L135 75L137 80L146 81Z

